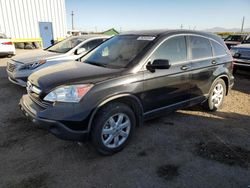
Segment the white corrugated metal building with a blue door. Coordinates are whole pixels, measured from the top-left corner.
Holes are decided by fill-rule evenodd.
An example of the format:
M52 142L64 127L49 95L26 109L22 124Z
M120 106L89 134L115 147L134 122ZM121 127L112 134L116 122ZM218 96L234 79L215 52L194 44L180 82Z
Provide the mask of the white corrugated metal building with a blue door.
M0 0L0 33L50 46L67 35L65 0Z

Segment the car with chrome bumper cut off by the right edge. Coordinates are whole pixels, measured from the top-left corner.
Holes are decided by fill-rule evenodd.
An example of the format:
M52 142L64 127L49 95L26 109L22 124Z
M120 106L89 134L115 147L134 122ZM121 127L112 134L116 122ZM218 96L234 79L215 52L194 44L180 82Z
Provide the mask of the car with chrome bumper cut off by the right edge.
M233 46L230 51L234 58L234 73L239 67L250 68L250 37L244 44Z

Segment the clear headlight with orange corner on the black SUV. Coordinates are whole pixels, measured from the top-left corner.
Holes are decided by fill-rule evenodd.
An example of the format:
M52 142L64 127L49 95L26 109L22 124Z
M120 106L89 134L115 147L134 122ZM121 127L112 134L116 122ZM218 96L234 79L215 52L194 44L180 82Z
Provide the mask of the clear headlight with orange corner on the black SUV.
M51 91L45 98L50 102L72 102L78 103L84 95L93 87L93 85L70 85L56 88Z

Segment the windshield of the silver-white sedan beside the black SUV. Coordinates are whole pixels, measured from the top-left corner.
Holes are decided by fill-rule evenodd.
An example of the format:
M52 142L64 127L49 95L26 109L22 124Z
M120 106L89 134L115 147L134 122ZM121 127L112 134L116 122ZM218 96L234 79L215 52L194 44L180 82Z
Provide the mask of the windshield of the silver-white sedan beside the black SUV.
M70 37L61 42L56 43L55 45L47 48L46 50L50 52L66 53L70 51L72 48L76 47L81 42L83 42L84 40L85 40L84 38Z

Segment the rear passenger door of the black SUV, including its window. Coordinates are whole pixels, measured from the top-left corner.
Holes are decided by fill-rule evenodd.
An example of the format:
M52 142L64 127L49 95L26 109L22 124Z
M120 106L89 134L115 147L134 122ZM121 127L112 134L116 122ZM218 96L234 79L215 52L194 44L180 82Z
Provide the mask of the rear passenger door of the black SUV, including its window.
M208 94L213 82L213 73L217 68L217 61L213 57L212 46L208 38L189 36L189 54L192 61L191 98L202 100Z

